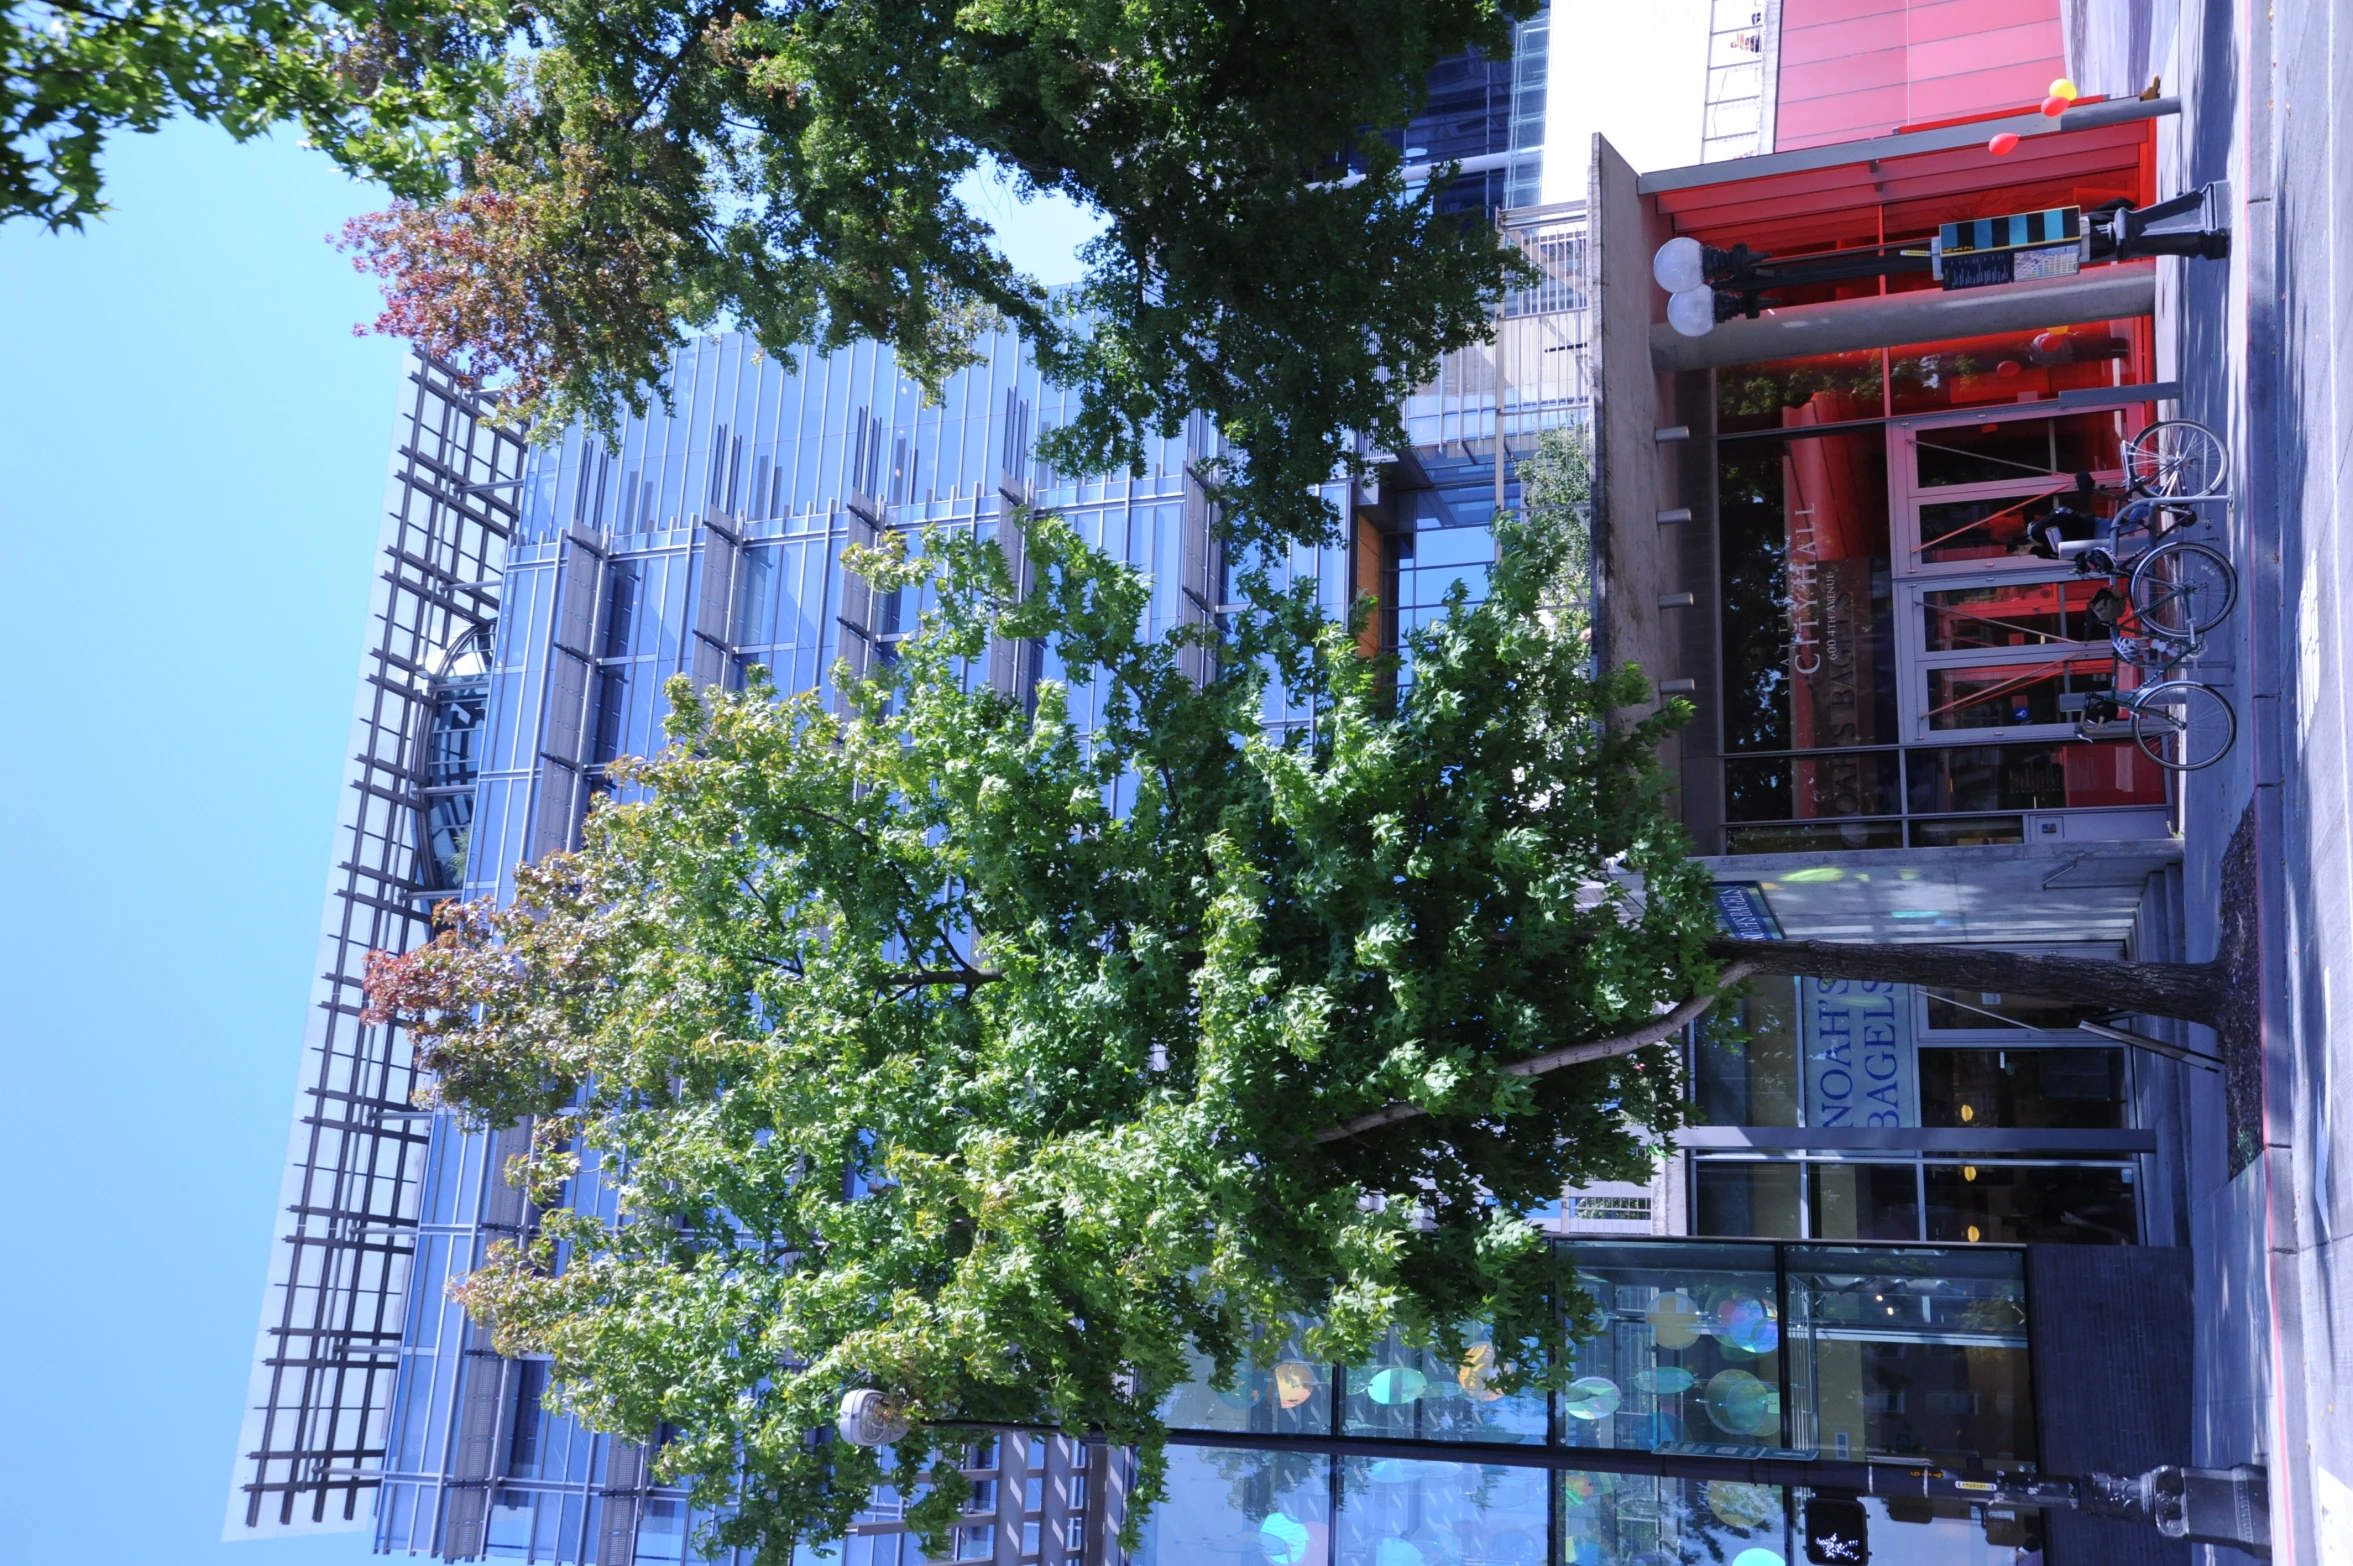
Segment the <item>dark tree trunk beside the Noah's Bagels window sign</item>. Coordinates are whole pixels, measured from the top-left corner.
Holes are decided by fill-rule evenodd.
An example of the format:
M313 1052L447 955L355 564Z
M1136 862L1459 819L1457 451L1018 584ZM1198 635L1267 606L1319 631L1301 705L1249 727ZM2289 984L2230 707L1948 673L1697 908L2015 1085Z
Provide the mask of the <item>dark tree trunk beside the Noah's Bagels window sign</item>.
M1908 941L1708 941L1708 957L1746 962L1758 973L1795 978L1873 978L1899 985L2042 995L2047 999L2172 1016L2214 1025L2221 1006L2219 962L2101 962L2028 957L1988 945L1913 945Z

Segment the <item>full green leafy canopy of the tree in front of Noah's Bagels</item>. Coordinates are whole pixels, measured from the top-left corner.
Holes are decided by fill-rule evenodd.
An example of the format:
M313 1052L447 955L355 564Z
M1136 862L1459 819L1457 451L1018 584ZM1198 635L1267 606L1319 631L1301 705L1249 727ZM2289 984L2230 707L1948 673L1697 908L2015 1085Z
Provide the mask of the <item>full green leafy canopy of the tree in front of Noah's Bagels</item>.
M536 1119L539 1237L466 1281L501 1347L680 1432L772 1559L885 1477L809 1439L854 1387L913 1420L939 1545L972 1423L1134 1441L1141 1514L1191 1354L1301 1319L1344 1361L1480 1321L1499 1390L1562 1376L1591 1307L1518 1213L1647 1178L1680 1082L1661 1046L1525 1068L1706 988L1713 903L1652 762L1680 712L1619 722L1640 675L1588 670L1581 527L1499 534L1402 689L1322 630L1313 734L1259 731L1268 658L1191 677L1209 633L1146 640L1144 578L1054 517L1021 602L986 541L868 555L939 607L840 705L673 684L579 854L372 973L442 1103ZM974 680L991 635L1071 684Z

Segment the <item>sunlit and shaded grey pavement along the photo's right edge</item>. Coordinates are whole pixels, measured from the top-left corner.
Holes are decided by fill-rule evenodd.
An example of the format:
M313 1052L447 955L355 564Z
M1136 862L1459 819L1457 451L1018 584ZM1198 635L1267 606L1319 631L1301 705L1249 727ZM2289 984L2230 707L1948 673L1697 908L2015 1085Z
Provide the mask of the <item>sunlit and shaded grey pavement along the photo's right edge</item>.
M2205 668L2240 743L2188 788L2188 955L2217 950L2238 832L2261 938L2254 1091L2193 1112L2198 1458L2271 1467L2275 1561L2353 1566L2353 7L2181 0L2165 89L2162 190L2238 198L2233 261L2160 289L2181 411L2238 456L2245 583Z

